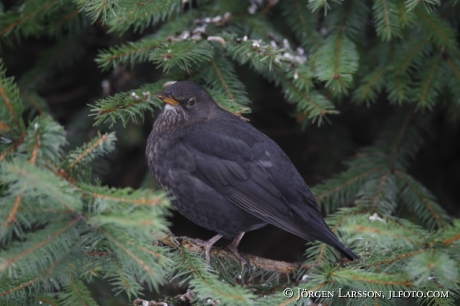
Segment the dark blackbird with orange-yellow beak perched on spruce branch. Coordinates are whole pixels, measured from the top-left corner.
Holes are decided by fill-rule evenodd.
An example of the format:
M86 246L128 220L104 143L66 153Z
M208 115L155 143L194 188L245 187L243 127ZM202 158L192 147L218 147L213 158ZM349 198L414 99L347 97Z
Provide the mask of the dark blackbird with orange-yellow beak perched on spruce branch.
M217 234L195 240L208 266L222 237L244 263L238 252L244 233L267 224L359 259L328 227L310 188L268 136L192 81L175 82L155 96L164 106L147 139L148 166L179 213Z

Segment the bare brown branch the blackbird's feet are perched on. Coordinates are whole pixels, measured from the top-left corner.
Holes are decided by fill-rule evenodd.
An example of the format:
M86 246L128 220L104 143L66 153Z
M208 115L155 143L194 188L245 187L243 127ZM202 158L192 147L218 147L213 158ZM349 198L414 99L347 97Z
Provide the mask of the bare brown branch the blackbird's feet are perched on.
M156 237L159 242L174 249L185 248L189 252L193 253L204 253L204 248L193 242L188 237L175 237L167 233L158 233ZM301 265L298 263L289 263L284 261L276 261L268 258L258 257L250 254L242 254L248 259L251 267L259 268L262 270L279 272L279 273L292 273L300 268L311 269L314 265ZM233 261L239 262L240 260L231 251L224 250L222 248L213 247L211 250L211 256L218 258L229 258Z

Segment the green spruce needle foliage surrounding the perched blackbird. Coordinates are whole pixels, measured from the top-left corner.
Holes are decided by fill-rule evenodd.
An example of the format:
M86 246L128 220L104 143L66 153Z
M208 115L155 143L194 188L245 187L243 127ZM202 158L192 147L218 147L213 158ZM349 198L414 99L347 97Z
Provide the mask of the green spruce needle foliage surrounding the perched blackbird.
M297 300L302 290L333 292L316 299L333 305L398 305L388 299L398 290L423 292L411 295L414 304L458 303L460 221L408 168L433 109L459 119L459 16L455 0L0 6L0 50L31 37L56 41L17 80L0 62L0 304L97 305L88 289L95 279L110 284L109 295L127 294L134 303L166 283L185 288L181 297L157 295L175 304L300 305L307 302ZM111 131L78 143L40 88L81 56L96 28L125 37L99 51L101 71L143 64L162 73L156 82L88 101L85 120ZM339 105L394 105L374 144L312 188L330 227L361 260L343 262L333 248L310 243L300 265L257 265L264 259L253 258L246 274L220 252L207 267L192 241L168 234L165 192L113 188L98 179L98 166L116 148L115 131L157 114L162 103L154 93L168 81L199 82L223 108L248 113L250 84L237 66L276 85L304 128L328 124L340 116ZM283 295L288 287L293 296ZM386 297L339 297L351 291Z

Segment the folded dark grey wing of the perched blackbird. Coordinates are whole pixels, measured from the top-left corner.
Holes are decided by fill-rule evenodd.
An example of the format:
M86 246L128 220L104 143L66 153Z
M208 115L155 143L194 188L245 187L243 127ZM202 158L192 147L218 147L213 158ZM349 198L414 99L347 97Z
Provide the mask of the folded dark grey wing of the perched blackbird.
M236 120L234 124L245 124ZM308 202L302 198L302 189L309 190L292 163L252 126L245 124L242 129L234 124L229 129L223 129L222 122L189 128L181 142L194 155L196 170L191 174L258 218L307 240L317 239L303 225L318 221L319 208L312 195L311 199L306 196ZM318 230L322 225L318 224Z

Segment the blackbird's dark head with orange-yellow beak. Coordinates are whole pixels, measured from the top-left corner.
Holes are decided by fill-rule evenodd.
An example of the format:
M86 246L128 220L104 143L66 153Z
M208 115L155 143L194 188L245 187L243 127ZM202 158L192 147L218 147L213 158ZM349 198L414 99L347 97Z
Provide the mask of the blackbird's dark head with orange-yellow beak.
M219 109L211 95L191 81L176 82L155 96L166 104L164 115L180 114L188 124L207 120Z

